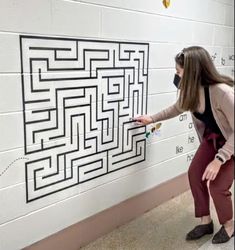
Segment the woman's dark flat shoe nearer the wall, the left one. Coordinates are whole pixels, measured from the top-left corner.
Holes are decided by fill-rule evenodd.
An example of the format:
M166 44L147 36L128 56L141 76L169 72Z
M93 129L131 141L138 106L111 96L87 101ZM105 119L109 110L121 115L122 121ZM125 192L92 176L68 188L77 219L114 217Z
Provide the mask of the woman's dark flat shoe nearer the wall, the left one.
M211 221L209 224L198 225L186 235L186 240L197 240L206 234L213 234L214 224Z

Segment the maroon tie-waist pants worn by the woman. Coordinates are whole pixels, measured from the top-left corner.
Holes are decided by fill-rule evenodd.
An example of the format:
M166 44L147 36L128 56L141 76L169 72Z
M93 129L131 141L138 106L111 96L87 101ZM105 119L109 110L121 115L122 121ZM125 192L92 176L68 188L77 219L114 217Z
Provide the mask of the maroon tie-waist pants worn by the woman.
M215 180L210 181L209 190L207 180L202 181L202 175L224 143L225 139L222 135L216 135L206 130L188 171L189 183L194 198L195 217L210 215L210 193L221 225L233 218L233 205L231 192L229 191L234 179L233 157L221 166Z

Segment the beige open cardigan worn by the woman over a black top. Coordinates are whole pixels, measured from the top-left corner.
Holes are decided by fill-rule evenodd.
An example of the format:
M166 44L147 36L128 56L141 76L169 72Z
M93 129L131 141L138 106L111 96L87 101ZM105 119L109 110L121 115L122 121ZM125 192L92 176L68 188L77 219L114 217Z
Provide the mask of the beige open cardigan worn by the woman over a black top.
M226 143L222 148L218 150L216 155L219 155L224 162L229 160L234 155L234 88L227 84L220 83L210 85L210 101L211 108ZM205 95L203 88L200 89L200 105L198 112L205 110ZM157 114L152 115L153 122L167 120L180 115L185 112L179 107L179 100L177 102L160 111ZM202 141L205 125L202 121L198 120L193 114L192 119L194 122L195 129L197 131L199 140Z

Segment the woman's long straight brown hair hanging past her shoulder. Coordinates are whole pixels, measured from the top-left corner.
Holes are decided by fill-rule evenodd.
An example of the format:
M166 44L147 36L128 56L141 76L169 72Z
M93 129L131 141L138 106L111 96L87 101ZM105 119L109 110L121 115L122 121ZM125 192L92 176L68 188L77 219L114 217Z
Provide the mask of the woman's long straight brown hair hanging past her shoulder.
M232 78L217 71L210 54L202 47L192 46L183 49L176 55L175 62L184 69L180 81L179 104L185 111L196 111L199 105L200 86L218 83L234 85Z

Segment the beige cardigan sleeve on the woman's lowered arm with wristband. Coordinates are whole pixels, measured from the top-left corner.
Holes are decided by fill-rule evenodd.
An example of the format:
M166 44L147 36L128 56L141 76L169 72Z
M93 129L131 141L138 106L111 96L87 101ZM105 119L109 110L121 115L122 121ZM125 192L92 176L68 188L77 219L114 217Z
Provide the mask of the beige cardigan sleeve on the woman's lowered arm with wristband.
M234 92L225 92L220 103L220 109L230 125L231 133L216 155L220 156L226 162L234 155Z

